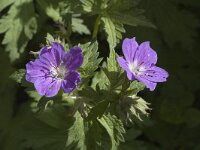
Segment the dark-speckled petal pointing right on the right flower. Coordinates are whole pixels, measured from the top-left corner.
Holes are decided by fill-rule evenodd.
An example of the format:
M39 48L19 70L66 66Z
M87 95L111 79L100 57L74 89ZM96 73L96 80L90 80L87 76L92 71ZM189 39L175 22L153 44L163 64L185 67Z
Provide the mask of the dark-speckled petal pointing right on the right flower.
M167 71L156 66L152 66L147 71L145 71L143 75L141 75L142 78L152 82L165 82L168 76L169 75Z

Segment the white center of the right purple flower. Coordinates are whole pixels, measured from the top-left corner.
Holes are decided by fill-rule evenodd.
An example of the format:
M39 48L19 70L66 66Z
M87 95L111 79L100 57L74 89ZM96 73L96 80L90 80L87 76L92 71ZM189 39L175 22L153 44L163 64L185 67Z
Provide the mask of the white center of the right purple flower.
M138 65L137 61L129 63L128 68L135 75L141 75L145 71L145 67Z

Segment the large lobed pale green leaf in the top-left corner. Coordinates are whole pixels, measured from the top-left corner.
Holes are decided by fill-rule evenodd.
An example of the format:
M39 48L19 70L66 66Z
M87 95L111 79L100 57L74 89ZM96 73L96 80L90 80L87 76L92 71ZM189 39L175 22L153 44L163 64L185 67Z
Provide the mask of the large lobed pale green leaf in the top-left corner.
M2 44L10 53L11 61L19 58L28 41L37 31L37 20L32 0L16 0L8 14L0 19Z

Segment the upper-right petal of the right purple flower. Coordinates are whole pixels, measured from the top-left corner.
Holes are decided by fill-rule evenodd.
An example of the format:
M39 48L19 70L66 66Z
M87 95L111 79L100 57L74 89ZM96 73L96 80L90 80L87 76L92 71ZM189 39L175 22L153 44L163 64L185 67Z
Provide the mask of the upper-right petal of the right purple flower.
M150 47L150 42L143 42L142 44L140 44L135 55L135 61L137 61L139 65L143 64L148 67L152 64L156 64L157 54Z

